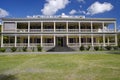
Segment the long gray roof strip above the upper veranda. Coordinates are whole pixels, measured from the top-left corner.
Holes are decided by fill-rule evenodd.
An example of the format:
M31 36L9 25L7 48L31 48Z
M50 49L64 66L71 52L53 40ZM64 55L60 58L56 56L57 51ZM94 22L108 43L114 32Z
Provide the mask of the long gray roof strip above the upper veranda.
M116 18L2 18L2 21L116 21Z

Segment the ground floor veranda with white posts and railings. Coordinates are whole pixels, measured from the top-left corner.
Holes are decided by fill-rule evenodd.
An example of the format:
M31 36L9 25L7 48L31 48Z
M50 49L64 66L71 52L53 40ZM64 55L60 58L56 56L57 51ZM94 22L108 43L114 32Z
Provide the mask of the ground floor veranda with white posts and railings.
M2 35L1 47L117 46L116 34Z

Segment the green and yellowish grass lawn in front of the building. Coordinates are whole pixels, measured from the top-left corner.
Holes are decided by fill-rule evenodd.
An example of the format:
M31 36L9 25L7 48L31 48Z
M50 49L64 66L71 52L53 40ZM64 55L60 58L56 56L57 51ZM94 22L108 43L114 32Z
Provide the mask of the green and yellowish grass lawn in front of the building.
M120 80L120 55L0 55L0 80Z

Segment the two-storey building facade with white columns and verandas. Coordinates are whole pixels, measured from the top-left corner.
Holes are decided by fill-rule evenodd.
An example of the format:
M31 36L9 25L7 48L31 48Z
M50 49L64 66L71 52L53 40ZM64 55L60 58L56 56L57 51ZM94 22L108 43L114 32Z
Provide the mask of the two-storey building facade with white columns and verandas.
M117 46L116 19L85 17L3 18L1 47Z

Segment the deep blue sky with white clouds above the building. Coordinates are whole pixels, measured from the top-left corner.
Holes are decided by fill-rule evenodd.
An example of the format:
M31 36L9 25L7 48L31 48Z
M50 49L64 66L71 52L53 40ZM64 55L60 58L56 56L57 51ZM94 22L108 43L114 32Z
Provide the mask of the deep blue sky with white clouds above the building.
M120 0L0 0L0 18L62 13L86 18L116 18L117 29L120 29Z

